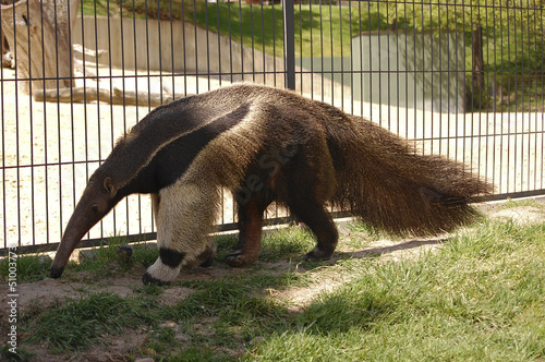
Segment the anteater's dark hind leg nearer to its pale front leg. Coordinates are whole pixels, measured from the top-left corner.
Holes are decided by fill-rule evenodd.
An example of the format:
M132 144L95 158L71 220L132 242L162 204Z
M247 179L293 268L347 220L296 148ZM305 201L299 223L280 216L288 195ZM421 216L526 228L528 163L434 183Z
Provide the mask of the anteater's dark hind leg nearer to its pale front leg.
M241 267L254 263L262 252L263 214L272 202L269 192L254 194L247 201L239 201L239 244L237 250L227 255L230 266Z

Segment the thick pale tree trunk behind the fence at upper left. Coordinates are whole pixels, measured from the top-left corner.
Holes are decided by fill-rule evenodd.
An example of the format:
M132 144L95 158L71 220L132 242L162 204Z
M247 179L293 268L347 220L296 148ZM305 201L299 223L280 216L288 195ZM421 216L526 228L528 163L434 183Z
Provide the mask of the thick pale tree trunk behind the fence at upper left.
M20 0L1 7L2 33L17 77L24 80L19 82L23 92L72 85L70 32L78 7L80 0Z

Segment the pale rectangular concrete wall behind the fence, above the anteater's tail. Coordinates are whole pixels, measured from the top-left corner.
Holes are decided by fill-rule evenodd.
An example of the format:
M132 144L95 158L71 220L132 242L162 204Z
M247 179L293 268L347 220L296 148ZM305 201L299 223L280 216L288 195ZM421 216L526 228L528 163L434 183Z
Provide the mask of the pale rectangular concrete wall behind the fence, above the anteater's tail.
M352 39L355 99L440 112L464 112L464 36L456 33L362 34Z

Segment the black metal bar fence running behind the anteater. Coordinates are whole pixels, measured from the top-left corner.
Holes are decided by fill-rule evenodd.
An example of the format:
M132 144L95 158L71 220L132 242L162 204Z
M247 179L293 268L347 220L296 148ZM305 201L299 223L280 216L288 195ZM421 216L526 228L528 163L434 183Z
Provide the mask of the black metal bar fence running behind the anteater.
M543 194L544 5L2 1L0 249L55 249L120 135L160 104L239 81L367 117L467 162L493 197ZM228 194L223 206L229 229ZM84 244L154 231L148 197L131 196Z

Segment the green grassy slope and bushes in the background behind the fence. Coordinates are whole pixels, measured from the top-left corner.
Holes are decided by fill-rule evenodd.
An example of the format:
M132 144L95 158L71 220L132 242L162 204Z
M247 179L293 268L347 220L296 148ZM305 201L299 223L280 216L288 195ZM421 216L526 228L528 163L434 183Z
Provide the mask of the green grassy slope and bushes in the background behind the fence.
M350 2L294 7L295 57L350 57L351 40L364 32L462 33L464 39L468 111L536 111L543 109L544 43L540 22L544 15L530 9L509 7L444 7L437 1L398 4ZM471 3L475 3L472 1ZM481 1L481 3L485 3ZM205 3L198 0L106 0L82 2L85 14L164 19L197 24L276 57L283 57L283 16L280 5L251 5L242 2ZM485 86L472 86L472 24L483 24ZM392 24L396 22L396 26ZM501 88L496 98L488 88ZM494 104L495 102L495 104Z

